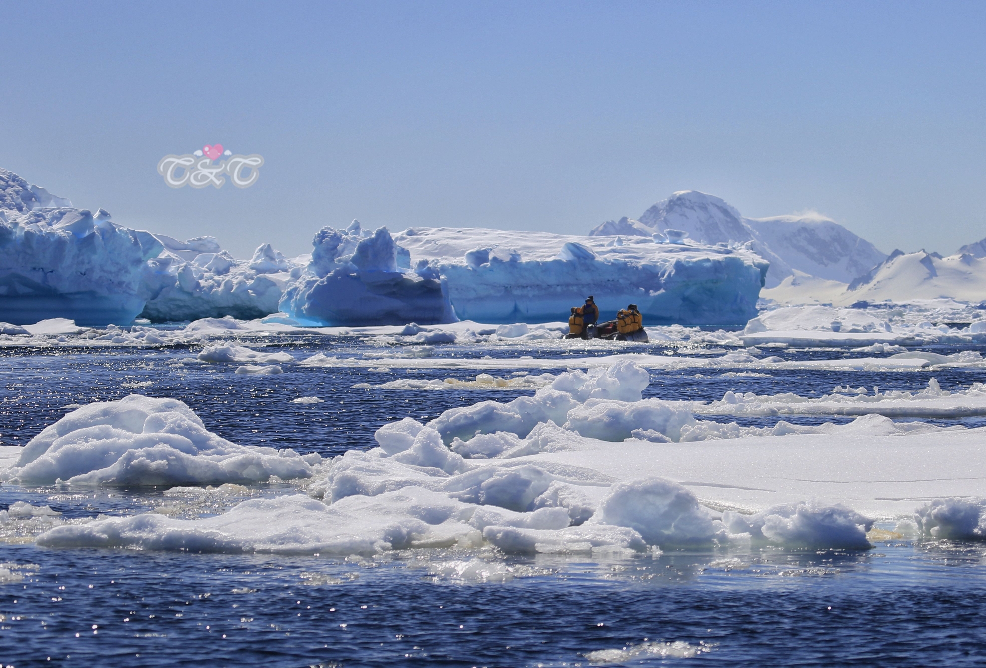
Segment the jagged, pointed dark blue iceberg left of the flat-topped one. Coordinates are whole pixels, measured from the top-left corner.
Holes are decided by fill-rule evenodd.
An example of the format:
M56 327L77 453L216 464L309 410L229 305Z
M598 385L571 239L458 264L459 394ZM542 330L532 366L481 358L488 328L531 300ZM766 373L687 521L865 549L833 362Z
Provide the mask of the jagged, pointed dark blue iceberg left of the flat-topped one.
M434 324L457 318L444 279L427 262L411 271L407 251L387 228L367 234L353 221L323 228L304 276L285 294L291 317L323 325Z

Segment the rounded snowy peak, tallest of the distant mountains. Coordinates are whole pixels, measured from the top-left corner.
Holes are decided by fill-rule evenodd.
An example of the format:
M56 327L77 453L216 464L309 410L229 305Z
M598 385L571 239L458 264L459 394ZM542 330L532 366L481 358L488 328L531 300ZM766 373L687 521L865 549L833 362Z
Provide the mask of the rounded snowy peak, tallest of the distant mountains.
M655 232L683 230L703 243L748 241L752 235L742 223L740 212L725 200L698 190L679 190L640 217Z

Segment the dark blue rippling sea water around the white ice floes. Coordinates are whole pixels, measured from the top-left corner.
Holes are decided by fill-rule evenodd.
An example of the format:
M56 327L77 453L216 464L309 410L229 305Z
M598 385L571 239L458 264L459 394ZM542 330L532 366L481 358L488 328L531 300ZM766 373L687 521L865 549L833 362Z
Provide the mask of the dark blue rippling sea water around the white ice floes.
M316 352L346 356L368 350L343 338L266 340L299 360ZM664 349L635 348L644 350ZM4 351L0 444L26 443L71 410L65 406L140 392L184 401L208 429L235 442L329 456L372 447L374 431L388 421L423 420L455 406L530 393L352 387L399 377L471 379L477 373L466 369L409 373L284 365L282 374L256 376L237 375L235 364L175 364L196 352ZM856 355L771 353L792 360ZM460 346L439 346L434 353L564 354L557 347ZM964 369L772 370L768 377L728 376L729 370L653 371L646 394L711 400L727 390L820 395L838 384L916 390L934 375L950 389L982 379L980 371ZM510 369L492 373L507 376ZM324 402L292 402L313 395ZM803 424L826 420L848 421L788 418ZM240 496L207 495L176 512L214 514L243 498L293 490L287 484L257 485ZM0 509L16 501L50 505L68 518L175 503L166 490L154 488L0 487ZM35 547L28 534L0 535L4 666L986 664L986 546L976 543L895 540L864 553L723 550L609 562L455 550L334 560L50 550ZM477 559L488 568L475 575L476 568L466 566L474 567Z

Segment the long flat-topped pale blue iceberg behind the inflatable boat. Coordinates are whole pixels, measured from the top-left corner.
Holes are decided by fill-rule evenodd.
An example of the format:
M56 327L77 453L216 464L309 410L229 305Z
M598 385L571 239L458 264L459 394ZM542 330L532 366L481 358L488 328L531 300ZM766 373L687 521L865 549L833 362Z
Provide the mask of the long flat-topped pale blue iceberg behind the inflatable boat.
M593 295L602 319L636 303L647 324L742 324L768 267L743 248L641 236L411 228L393 238L412 264L446 277L459 318L489 323L565 321Z

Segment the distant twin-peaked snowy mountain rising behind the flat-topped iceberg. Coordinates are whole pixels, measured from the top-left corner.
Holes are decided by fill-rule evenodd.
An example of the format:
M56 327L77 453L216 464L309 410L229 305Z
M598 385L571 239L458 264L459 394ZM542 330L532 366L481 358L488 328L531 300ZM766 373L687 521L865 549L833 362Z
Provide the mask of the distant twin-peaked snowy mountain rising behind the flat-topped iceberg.
M748 243L770 262L768 288L798 273L849 283L886 257L866 239L823 216L743 218L721 198L697 190L672 193L639 221L609 221L590 234L648 236L667 230L681 230L702 243Z

